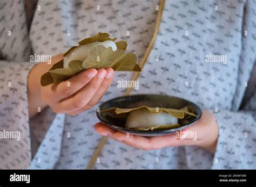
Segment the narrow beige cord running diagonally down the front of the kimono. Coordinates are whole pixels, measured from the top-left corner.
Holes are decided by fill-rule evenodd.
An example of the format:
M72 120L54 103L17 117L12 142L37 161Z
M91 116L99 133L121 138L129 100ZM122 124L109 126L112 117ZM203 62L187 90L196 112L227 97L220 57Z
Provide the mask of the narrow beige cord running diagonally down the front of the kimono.
M152 50L152 47L154 45L154 42L156 41L156 38L157 38L157 34L158 34L158 30L159 30L159 27L160 27L160 23L161 23L161 17L163 15L163 10L164 10L164 3L165 3L165 0L160 0L160 3L159 3L159 11L158 11L158 15L157 15L157 20L156 20L156 27L154 29L154 34L153 34L153 37L150 41L150 45L149 47L147 47L147 51L145 53L145 55L143 56L143 59L142 61L140 62L139 66L143 69L144 67L144 64L146 63L146 60L147 60L147 57L149 57L149 54ZM137 80L139 77L139 72L136 72L132 78L133 81ZM128 88L126 91L125 91L125 95L129 95L131 92L131 88ZM99 143L98 143L98 146L97 146L97 149L95 150L95 152L93 153L92 157L91 157L91 160L89 161L89 164L87 165L86 169L92 169L94 164L95 164L95 161L97 159L97 157L99 156L100 152L102 151L104 145L105 145L105 142L107 140L107 136L103 136L102 139L100 139Z

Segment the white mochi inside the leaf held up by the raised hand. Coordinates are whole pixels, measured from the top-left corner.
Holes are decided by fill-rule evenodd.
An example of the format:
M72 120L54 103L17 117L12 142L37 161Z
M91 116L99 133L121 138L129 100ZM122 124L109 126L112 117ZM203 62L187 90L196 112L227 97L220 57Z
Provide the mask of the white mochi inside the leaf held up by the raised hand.
M87 58L90 49L97 46L97 45L103 45L106 48L111 47L112 51L117 50L116 43L111 41L111 40L106 40L106 41L103 41L103 42L96 41L96 42L92 42L90 44L85 44L85 45L82 45L82 46L78 46L75 49L73 49L71 52L69 52L68 55L66 55L64 57L63 67L68 68L69 67L69 62L72 61L72 60L80 60L80 61L83 62Z

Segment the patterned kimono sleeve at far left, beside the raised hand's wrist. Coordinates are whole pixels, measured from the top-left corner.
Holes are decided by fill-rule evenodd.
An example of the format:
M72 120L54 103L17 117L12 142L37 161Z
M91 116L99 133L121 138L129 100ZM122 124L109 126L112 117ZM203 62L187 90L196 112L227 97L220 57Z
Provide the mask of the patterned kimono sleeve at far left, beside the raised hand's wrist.
M0 139L0 169L27 168L31 160L27 77L34 66L22 1L0 2L0 131L21 140Z

